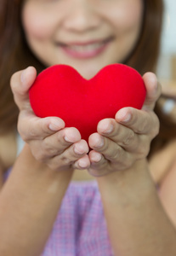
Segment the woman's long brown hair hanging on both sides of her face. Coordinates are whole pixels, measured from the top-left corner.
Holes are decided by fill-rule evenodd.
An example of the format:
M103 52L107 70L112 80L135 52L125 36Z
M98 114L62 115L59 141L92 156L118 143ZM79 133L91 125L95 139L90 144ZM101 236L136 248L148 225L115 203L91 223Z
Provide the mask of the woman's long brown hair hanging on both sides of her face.
M141 0L142 1L142 0ZM156 72L158 56L160 54L162 34L162 0L143 0L145 4L143 24L139 40L128 59L124 61L130 67L135 68L141 75L145 72ZM11 75L28 66L37 68L37 73L45 67L32 54L26 44L25 34L21 26L22 0L1 0L0 5L0 132L7 132L17 125L19 110L14 103L14 98L9 86ZM161 124L165 121L162 112L156 107ZM169 120L169 129L172 120ZM166 128L166 127L165 127ZM162 137L169 137L170 131L165 129Z

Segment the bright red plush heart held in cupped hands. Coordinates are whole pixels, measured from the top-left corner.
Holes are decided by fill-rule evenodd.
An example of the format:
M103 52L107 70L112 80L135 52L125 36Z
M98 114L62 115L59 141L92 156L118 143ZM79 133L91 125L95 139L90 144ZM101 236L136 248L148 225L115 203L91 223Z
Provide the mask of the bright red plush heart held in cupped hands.
M37 116L60 117L88 141L99 120L114 118L123 107L141 108L145 84L136 70L122 64L104 67L90 80L73 67L55 65L37 76L29 95Z

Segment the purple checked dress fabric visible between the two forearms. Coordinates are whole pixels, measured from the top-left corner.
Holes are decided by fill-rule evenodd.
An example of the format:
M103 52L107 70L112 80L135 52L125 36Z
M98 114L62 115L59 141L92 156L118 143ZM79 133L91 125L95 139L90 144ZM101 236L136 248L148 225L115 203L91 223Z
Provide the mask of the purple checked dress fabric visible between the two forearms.
M112 256L98 185L72 182L41 256Z

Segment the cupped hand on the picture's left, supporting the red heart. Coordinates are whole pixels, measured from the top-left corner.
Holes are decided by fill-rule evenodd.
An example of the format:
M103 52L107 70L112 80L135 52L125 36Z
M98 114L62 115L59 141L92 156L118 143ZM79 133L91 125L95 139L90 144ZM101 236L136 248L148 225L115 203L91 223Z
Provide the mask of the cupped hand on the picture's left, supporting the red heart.
M65 128L57 117L38 118L32 111L28 92L37 77L34 67L14 73L11 88L20 109L18 131L30 145L34 157L55 171L85 169L89 166L88 143L76 128Z

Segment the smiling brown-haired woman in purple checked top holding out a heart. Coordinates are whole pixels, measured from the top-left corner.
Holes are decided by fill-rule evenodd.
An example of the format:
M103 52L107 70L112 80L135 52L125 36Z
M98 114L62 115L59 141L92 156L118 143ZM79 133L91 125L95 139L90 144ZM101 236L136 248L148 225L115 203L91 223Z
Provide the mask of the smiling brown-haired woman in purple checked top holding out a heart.
M160 86L154 74L145 72L156 68L162 1L27 0L14 2L14 6L4 1L2 17L1 77L7 70L9 74L1 87L4 91L2 134L6 131L1 142L6 145L9 140L11 145L10 158L5 154L9 153L9 147L1 147L2 173L15 164L0 195L1 234L8 234L3 236L0 252L7 255L12 252L14 255L174 254L175 230L162 209L145 162L150 141L158 131L158 120L152 109ZM12 42L14 29L16 35ZM145 73L145 104L140 111L123 108L115 119L101 120L98 132L89 137L88 144L93 148L89 153L88 144L81 140L75 128L65 128L61 119L38 119L31 112L28 90L36 79L34 67L39 72L62 61L77 67L89 79L102 65L114 62L114 57L142 75ZM14 73L29 65L34 67ZM16 161L14 127L18 110L7 87L12 73L14 101L20 109L19 131L26 141ZM126 137L131 140L125 145ZM116 150L121 152L122 159ZM94 177L86 168L92 174L106 171L106 175L92 181ZM71 183L71 177L86 180L88 184Z

